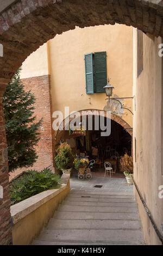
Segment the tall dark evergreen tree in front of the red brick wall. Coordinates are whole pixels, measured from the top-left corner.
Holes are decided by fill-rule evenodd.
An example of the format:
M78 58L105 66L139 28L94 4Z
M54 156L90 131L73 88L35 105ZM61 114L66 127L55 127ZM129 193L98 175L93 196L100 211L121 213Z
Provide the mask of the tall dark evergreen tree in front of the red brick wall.
M39 141L42 119L34 123L34 94L25 92L20 71L8 83L3 97L5 129L8 144L9 172L30 167L36 162L35 146Z

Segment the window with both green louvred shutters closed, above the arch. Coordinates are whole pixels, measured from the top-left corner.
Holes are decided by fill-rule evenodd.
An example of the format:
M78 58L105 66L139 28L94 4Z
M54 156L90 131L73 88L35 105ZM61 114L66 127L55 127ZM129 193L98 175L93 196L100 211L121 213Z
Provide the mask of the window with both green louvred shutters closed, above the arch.
M86 93L105 93L107 84L106 52L85 54Z

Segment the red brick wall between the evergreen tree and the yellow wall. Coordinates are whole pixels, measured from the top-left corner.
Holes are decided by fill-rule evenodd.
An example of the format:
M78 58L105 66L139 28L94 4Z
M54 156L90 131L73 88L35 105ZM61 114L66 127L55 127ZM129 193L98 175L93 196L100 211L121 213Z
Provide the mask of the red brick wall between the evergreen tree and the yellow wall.
M53 160L53 147L52 147L52 113L51 106L52 100L50 95L50 76L39 76L22 79L25 90L31 90L36 97L34 115L35 121L43 118L40 128L40 141L36 147L38 159L33 167L17 169L14 173L10 174L10 179L14 178L17 174L26 169L41 170L52 164Z

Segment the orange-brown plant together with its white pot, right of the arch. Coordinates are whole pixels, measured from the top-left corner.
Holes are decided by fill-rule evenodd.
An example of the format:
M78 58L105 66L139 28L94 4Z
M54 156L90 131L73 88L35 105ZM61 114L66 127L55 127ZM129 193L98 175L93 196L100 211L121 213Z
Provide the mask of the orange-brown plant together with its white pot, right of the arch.
M126 176L127 182L133 184L133 157L127 153L121 156L120 165L124 175Z

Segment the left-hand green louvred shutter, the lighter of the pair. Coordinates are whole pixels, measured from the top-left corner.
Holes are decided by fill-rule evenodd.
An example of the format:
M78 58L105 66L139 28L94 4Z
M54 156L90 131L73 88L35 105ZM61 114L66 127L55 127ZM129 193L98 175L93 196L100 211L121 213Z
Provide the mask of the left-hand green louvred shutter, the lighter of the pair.
M86 93L94 93L93 89L93 54L85 54L85 80L86 80Z

